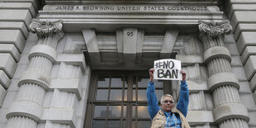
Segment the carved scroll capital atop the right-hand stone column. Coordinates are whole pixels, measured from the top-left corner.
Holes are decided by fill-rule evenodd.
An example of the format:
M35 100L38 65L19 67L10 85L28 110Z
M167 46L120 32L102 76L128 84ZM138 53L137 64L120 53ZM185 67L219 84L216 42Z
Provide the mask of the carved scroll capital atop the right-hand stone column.
M230 21L220 21L220 22L207 22L207 21L198 21L199 23L199 31L206 33L207 36L211 36L213 38L223 35L229 34L232 31L232 26L230 26Z

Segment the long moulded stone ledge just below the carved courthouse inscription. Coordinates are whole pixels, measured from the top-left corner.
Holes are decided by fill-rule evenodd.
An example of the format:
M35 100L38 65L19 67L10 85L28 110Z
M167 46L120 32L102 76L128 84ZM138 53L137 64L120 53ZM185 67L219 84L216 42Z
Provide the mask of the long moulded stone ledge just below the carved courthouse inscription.
M64 24L69 23L81 23L83 21L84 23L103 23L108 24L114 23L114 24L154 24L155 22L158 22L158 24L197 24L198 25L198 17L201 17L201 19L204 19L204 21L222 21L221 16L223 15L223 12L193 12L190 13L191 15L187 17L187 12L166 12L166 13L140 13L141 15L134 15L131 16L130 14L133 14L132 12L67 12L67 11L40 11L40 19L46 20L50 19L50 21L55 21L57 18L59 19L59 16L62 16L61 19L64 21ZM89 15L88 15L89 14ZM159 16L159 14L163 16ZM99 15L103 15L104 17L101 17ZM88 19L88 17L90 19ZM118 17L118 18L116 18ZM135 20L135 19L140 19ZM74 19L74 20L71 20ZM75 19L80 19L78 22ZM103 20L102 19L112 19L112 20ZM164 21L163 21L164 20ZM64 25L65 26L65 25ZM80 27L80 30L83 27ZM87 27L88 28L88 27Z

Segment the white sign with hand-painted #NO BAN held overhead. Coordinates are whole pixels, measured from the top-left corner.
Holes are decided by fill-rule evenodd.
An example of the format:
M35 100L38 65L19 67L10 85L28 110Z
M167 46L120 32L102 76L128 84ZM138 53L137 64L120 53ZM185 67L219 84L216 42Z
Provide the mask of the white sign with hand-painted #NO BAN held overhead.
M182 80L181 61L176 59L159 59L154 61L154 79Z

